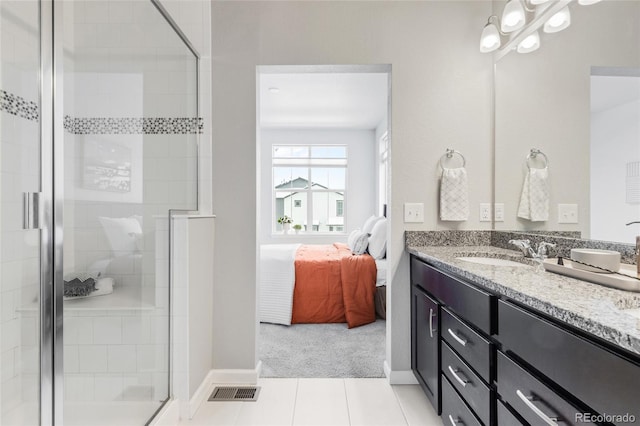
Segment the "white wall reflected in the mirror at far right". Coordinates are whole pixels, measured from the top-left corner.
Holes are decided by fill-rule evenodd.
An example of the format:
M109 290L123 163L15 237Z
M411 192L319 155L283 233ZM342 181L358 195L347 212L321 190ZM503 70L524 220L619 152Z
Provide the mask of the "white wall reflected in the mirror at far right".
M640 225L625 226L640 220L640 203L626 202L632 162L640 162L640 101L592 113L591 238L633 244L640 235Z

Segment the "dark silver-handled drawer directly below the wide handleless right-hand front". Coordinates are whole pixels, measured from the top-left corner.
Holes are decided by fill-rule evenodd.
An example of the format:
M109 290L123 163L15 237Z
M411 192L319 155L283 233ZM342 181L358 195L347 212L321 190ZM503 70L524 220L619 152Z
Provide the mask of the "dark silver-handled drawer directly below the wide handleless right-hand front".
M498 394L532 425L593 424L579 421L583 410L575 408L502 352L498 352Z

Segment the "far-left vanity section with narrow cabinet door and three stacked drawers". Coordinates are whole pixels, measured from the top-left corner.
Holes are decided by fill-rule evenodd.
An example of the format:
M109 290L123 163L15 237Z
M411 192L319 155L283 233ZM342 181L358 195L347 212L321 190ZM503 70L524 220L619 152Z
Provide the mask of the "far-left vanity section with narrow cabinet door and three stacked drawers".
M494 424L496 297L414 257L411 282L418 382L445 422Z

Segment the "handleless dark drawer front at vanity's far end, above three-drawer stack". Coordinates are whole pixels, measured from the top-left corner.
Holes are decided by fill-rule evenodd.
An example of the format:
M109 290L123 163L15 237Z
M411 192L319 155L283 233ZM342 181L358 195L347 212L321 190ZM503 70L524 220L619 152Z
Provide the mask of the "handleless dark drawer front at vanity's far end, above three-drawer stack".
M411 283L418 285L461 318L488 335L496 330L496 297L411 257Z

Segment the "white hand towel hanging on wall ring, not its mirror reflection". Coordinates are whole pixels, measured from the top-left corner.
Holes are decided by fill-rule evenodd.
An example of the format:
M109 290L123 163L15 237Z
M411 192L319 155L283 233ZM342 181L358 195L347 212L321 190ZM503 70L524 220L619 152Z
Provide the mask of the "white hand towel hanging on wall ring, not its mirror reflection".
M469 190L464 167L442 170L440 180L440 220L469 219Z

